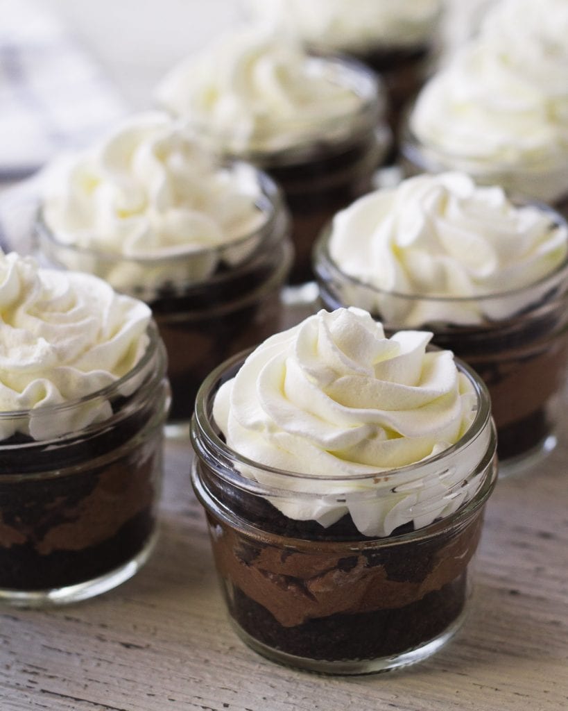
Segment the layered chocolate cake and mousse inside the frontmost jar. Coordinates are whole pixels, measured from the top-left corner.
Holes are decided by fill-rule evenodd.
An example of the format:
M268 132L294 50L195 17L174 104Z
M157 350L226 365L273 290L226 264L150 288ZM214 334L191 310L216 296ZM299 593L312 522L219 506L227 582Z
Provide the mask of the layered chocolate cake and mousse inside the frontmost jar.
M212 496L212 478L200 476ZM350 515L324 528L246 493L239 506L222 487L214 495L221 512L232 508L231 523L207 515L229 614L263 645L325 661L394 656L437 638L464 611L481 509L422 532L402 526L383 542L361 536Z

